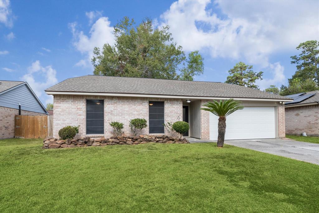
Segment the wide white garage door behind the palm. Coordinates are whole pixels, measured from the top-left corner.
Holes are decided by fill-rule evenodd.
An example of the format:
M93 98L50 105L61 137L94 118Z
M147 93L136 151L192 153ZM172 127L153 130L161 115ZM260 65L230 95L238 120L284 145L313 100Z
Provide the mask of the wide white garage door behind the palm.
M218 116L209 115L210 139L217 140ZM226 117L225 140L275 138L275 107L248 107Z

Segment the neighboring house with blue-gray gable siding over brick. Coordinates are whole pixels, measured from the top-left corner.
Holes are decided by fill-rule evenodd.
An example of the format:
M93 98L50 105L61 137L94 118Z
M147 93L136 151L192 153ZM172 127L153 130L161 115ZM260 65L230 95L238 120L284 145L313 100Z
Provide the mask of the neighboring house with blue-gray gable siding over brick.
M14 137L15 115L46 115L48 112L23 81L0 81L0 139Z

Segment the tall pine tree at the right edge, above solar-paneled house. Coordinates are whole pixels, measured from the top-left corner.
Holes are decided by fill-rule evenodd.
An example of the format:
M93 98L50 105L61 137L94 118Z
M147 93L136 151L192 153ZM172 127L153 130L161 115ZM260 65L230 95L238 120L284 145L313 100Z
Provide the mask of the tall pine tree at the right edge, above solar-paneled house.
M306 41L300 43L297 50L301 53L297 56L291 56L292 64L296 64L297 71L288 79L289 83L295 79L304 82L308 79L314 80L319 86L319 42L317 40Z

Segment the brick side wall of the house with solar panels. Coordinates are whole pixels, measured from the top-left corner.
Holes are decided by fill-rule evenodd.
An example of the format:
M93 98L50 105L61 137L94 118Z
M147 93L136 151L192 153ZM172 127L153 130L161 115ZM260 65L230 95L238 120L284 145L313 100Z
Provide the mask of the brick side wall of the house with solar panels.
M285 108L286 133L319 136L319 105L296 106Z

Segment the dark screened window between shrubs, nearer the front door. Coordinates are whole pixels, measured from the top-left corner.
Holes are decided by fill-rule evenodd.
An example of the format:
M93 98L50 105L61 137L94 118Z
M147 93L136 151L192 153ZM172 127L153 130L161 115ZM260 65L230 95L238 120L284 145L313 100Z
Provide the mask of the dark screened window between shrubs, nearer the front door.
M164 133L164 102L150 101L148 104L149 133Z

